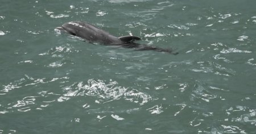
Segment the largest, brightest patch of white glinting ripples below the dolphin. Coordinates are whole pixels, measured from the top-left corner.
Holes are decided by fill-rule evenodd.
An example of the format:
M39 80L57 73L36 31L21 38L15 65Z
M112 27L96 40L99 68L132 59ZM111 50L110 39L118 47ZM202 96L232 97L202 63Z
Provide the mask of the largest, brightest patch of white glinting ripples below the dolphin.
M87 95L96 97L97 103L108 103L117 99L125 99L126 101L142 105L153 99L150 95L136 89L117 85L116 81L105 83L104 81L94 81L93 79L89 79L86 84L84 82L76 82L71 86L63 87L66 93L58 101L63 102L71 97Z

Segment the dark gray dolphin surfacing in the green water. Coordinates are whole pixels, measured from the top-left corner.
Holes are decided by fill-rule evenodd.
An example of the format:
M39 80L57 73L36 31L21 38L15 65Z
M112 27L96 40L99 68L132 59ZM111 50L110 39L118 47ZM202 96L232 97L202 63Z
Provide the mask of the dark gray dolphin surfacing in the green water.
M172 53L171 49L158 48L154 46L134 43L136 40L141 40L137 36L121 36L115 37L110 33L94 27L92 24L85 22L68 22L64 23L61 27L56 27L57 30L66 32L69 35L81 37L89 42L98 42L104 45L120 45L125 48L134 48L138 51L158 51L167 52L173 55L178 53Z

